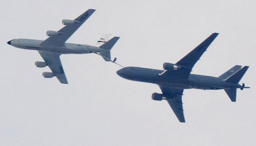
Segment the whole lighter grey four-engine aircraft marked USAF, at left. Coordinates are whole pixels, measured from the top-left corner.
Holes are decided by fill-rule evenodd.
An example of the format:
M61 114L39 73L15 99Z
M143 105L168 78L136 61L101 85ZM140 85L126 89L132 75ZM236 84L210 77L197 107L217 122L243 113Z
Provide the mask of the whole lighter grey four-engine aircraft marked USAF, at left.
M120 37L113 37L108 41L104 37L100 38L97 42L97 44L100 44L99 47L65 43L66 40L94 13L94 11L94 9L89 9L74 20L62 20L62 24L65 26L57 32L47 31L46 34L49 37L44 41L35 39L12 39L7 43L21 49L37 50L44 59L44 62L36 61L36 67L49 66L52 70L52 72L44 72L42 74L43 77L52 78L56 76L60 83L68 84L60 61L61 54L96 53L102 56L105 61L112 61L110 58L110 50ZM114 61L116 61L116 58Z

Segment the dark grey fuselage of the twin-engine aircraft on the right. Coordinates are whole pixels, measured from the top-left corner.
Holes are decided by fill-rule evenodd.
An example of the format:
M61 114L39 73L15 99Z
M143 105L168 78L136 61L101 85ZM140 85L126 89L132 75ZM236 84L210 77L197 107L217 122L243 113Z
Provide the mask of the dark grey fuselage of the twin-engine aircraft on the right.
M219 90L227 88L241 88L239 84L232 84L218 77L206 75L190 74L188 79L180 79L161 75L164 70L148 69L142 67L124 67L116 73L125 79L132 81L140 81L146 83L154 83L161 86L180 88L180 89L203 89L203 90Z

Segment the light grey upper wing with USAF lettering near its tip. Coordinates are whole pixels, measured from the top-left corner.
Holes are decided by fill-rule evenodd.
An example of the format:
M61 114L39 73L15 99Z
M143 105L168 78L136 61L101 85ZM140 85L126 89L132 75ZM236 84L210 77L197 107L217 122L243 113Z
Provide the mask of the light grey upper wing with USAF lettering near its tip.
M60 35L50 36L44 40L41 45L52 45L52 46L64 46L66 40L76 32L76 30L96 11L94 9L89 9L80 15L78 18L74 19L73 24L68 24L64 28L60 29L58 32Z

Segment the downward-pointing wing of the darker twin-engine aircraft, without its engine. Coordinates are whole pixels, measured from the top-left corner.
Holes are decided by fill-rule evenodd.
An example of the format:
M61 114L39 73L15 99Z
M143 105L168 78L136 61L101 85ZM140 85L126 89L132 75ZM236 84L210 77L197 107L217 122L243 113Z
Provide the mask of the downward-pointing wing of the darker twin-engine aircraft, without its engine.
M185 122L185 117L184 117L184 110L182 106L182 95L184 89L178 89L178 88L171 88L171 87L165 87L165 86L160 86L160 89L166 97L167 102L171 106L173 112L177 116L178 120L180 122Z

